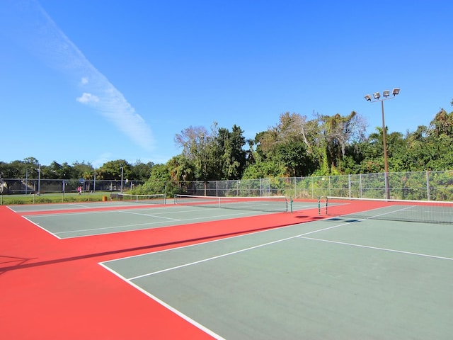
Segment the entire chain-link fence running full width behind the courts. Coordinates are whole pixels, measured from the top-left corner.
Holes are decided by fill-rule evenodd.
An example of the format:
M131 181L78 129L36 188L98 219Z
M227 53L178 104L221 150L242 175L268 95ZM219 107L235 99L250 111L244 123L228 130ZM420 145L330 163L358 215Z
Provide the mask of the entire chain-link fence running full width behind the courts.
M81 187L84 192L137 189L140 193L155 193L151 191L159 187L159 191L165 191L167 196L188 193L202 196L291 196L313 199L319 196L386 198L384 173L159 184L150 186L149 182L141 181L4 179L0 190L2 194L69 193ZM399 200L453 200L453 170L389 173L389 193L391 199Z

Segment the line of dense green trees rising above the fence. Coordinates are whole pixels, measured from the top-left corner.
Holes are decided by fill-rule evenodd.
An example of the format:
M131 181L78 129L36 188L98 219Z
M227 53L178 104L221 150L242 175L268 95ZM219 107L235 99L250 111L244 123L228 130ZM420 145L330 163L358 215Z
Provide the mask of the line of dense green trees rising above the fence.
M210 130L185 128L174 138L182 152L166 164L118 159L94 169L89 162L40 165L29 157L0 162L0 174L4 179L37 178L40 171L42 179L118 180L123 172L124 179L133 181L184 182L383 172L383 130L378 127L369 135L365 130L364 118L355 111L311 119L286 112L277 124L248 140L238 125L231 130L216 122ZM414 132L386 130L389 171L453 169L452 145L453 112L443 108Z

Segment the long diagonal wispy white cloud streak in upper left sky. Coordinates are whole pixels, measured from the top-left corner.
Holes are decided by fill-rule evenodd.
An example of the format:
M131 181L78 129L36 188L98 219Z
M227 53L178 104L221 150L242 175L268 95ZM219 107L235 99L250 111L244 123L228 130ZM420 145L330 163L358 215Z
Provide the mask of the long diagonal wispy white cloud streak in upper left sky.
M38 1L6 0L1 6L8 35L34 55L73 79L81 87L79 103L91 106L118 130L143 149L151 150L151 128L125 96L91 64L76 45L59 29ZM0 16L0 19L2 16Z

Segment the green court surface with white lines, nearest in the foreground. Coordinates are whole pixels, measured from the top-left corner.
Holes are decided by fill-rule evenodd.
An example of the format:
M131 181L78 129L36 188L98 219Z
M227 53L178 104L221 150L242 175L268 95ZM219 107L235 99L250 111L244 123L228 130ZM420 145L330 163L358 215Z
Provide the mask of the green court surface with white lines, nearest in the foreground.
M102 265L217 339L453 334L448 225L345 216Z

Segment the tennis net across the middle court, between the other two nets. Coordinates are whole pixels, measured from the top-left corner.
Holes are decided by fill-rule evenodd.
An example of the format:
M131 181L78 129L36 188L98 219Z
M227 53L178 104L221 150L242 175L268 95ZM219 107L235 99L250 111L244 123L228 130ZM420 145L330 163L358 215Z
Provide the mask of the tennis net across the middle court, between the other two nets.
M202 208L226 208L262 212L287 212L288 202L285 196L260 197L220 197L175 195L176 205L193 205Z

